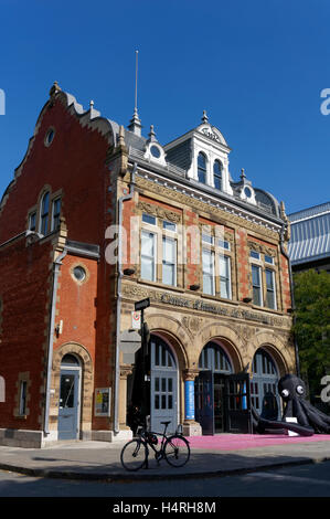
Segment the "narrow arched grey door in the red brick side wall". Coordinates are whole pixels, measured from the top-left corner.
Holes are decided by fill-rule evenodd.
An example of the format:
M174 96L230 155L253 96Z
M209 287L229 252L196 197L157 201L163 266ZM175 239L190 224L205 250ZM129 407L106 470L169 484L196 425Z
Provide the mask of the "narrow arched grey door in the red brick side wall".
M58 439L76 439L79 433L81 363L74 354L61 362Z

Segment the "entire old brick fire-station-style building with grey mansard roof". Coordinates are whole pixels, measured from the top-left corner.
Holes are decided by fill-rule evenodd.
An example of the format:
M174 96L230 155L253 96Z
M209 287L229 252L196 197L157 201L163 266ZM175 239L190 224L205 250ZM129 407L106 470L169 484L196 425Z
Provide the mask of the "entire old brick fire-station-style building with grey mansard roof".
M269 394L279 413L289 222L230 152L205 113L162 146L53 85L0 206L2 444L129 437L146 399L189 435L249 432Z

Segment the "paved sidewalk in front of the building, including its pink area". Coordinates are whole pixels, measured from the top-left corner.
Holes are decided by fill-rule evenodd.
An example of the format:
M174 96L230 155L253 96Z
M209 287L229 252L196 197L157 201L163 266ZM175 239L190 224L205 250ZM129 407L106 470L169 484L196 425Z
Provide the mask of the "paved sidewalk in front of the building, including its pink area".
M42 449L0 446L0 469L35 477L118 481L226 476L330 460L330 435L223 434L189 441L191 458L182 468L173 468L164 459L157 465L150 453L149 469L128 473L120 464L125 442L61 442Z

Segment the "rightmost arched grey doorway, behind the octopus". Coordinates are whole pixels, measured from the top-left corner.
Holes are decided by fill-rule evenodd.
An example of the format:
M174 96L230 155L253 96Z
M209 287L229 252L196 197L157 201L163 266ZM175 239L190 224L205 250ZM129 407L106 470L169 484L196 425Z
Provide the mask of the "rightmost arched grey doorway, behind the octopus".
M259 348L252 364L251 402L260 416L267 420L278 419L278 369L273 357Z

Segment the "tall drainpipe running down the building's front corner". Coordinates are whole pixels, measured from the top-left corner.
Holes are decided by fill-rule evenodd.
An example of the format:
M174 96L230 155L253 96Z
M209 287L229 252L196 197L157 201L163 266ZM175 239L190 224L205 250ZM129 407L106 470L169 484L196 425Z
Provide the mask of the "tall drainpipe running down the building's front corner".
M119 416L118 416L118 392L119 392L119 378L120 378L120 366L119 366L119 353L120 353L120 308L121 308L121 256L123 256L123 205L127 200L131 200L135 191L135 177L137 171L137 163L134 163L132 171L130 173L130 187L129 194L119 198L118 200L118 277L117 277L117 322L116 322L116 367L115 367L115 394L114 394L114 431L116 434L119 433Z

